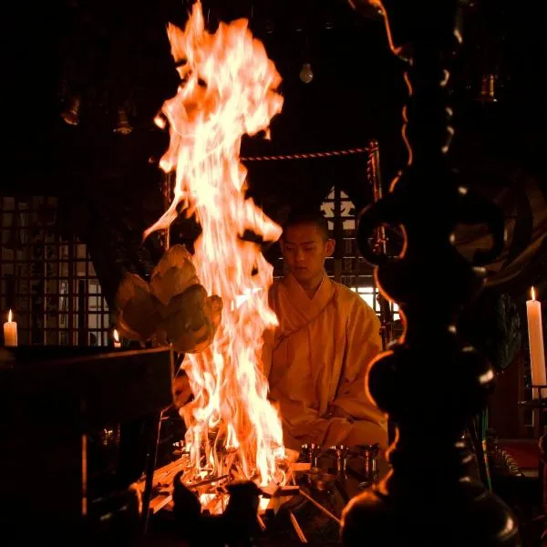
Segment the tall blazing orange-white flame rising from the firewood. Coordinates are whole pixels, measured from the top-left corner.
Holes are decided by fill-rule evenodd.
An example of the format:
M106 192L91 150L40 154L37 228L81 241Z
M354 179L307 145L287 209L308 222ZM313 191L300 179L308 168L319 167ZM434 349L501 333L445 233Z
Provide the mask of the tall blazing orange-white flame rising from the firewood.
M181 85L161 110L170 147L160 167L176 170L176 183L169 209L145 237L168 227L181 207L195 214L202 232L193 261L208 294L224 302L212 345L183 364L194 394L183 411L186 445L196 472L222 474L230 460L240 478L266 484L283 475L276 460L284 456L261 361L263 331L277 324L267 296L273 268L260 245L242 236L251 231L275 241L281 229L245 198L239 155L243 135L267 130L281 111L281 77L246 20L221 23L210 34L199 2L185 29L170 25L168 35Z

